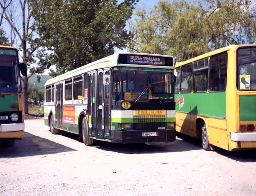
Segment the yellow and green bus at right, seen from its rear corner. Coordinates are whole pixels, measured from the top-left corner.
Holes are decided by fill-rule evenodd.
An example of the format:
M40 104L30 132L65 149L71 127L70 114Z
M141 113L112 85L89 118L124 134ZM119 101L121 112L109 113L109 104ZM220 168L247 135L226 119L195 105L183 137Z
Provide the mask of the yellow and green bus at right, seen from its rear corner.
M175 65L176 131L203 149L256 148L256 45L230 45Z

